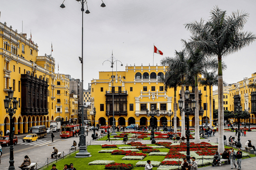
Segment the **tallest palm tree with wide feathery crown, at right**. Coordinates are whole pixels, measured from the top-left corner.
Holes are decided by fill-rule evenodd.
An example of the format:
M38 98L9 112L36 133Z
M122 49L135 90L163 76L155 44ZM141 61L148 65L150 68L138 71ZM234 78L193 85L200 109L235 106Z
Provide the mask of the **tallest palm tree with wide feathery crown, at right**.
M244 24L249 17L245 12L233 12L227 16L226 11L218 6L211 11L210 20L204 24L200 22L191 22L185 24L191 33L189 44L195 49L201 49L209 56L218 58L218 96L219 96L219 146L218 151L222 153L223 143L223 78L222 78L222 56L233 54L245 46L250 45L255 39L252 32L243 32Z

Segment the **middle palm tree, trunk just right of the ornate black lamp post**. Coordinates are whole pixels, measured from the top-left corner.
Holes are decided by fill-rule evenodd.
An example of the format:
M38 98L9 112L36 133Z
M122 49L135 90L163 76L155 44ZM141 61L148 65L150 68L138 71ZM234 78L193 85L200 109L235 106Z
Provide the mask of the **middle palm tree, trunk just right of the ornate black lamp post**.
M193 49L185 40L183 41L183 45L186 47L186 52L189 55L189 60L186 69L186 79L192 79L193 84L195 86L195 100L196 100L196 108L195 108L195 143L200 143L199 137L199 94L198 94L198 77L199 74L206 69L214 69L218 68L218 60L215 58L207 58L204 53L202 53L199 49Z

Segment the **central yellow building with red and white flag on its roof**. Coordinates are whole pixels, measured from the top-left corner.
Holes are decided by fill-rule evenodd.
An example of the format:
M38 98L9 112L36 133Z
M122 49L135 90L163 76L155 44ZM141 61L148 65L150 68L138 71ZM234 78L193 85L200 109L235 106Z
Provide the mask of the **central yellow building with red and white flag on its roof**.
M150 110L151 106L158 108L160 116L156 116L154 124L163 126L164 124L173 125L173 116L168 117L167 111L173 111L174 90L164 90L163 83L159 83L160 77L164 76L166 66L127 66L125 71L114 72L112 81L112 72L99 72L99 79L91 81L92 90L92 111L90 112L93 121L93 108L96 109L95 124L105 125L113 122L113 94L114 92L114 113L116 125L139 124L148 126L150 117L147 116L146 110ZM113 83L113 84L112 84ZM113 86L113 89L112 89ZM203 89L201 91L201 88ZM186 87L191 93L190 97L195 96L194 88ZM206 88L199 87L199 105L206 104ZM180 99L181 87L177 88L177 105ZM210 95L209 87L207 87L207 95ZM202 98L201 98L202 96ZM209 98L207 98L209 104ZM206 107L205 107L206 108ZM208 120L210 114L208 110ZM206 117L204 112L203 118ZM171 118L171 121L170 121ZM201 120L201 116L199 119ZM192 113L189 116L190 125L195 125L195 116ZM181 125L180 111L177 111L177 124Z

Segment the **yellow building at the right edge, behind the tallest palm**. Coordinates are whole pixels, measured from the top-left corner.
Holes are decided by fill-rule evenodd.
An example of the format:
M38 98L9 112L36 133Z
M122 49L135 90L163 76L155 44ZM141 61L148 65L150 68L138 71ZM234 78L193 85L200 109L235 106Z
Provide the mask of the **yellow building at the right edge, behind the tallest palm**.
M254 88L248 87L252 83L256 83L256 73L253 73L251 78L244 78L244 80L229 84L228 87L223 87L223 98L225 97L224 110L234 111L237 101L240 101L242 110L250 113L250 119L245 120L246 123L256 123L256 94ZM218 109L218 90L214 91L214 99L215 107L217 106ZM237 122L238 120L234 121ZM244 120L241 121L243 122Z

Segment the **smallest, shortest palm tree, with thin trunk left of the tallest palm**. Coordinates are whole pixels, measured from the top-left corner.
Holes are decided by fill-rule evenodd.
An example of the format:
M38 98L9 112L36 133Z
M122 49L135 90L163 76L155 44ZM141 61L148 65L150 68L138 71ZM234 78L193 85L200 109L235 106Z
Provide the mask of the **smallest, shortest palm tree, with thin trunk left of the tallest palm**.
M201 86L209 86L210 89L210 128L212 129L212 86L218 85L218 75L215 72L207 72L203 73L204 78L199 78L199 83Z

